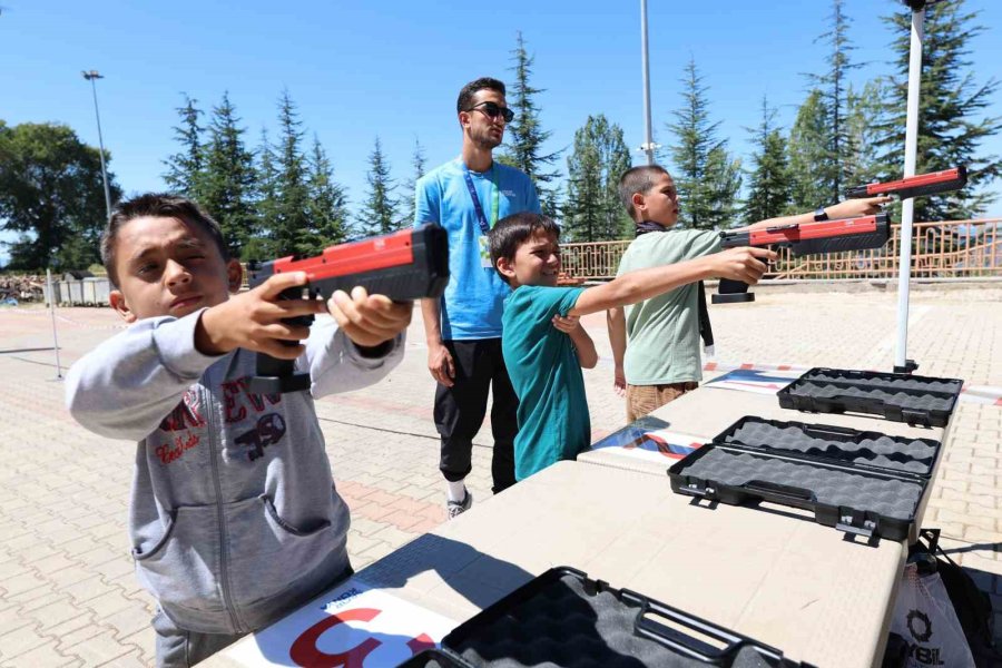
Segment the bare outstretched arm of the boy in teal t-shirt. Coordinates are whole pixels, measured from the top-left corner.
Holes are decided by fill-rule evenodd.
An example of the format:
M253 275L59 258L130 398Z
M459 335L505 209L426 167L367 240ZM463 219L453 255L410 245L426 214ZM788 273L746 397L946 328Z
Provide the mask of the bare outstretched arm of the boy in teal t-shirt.
M674 265L629 272L605 285L582 292L568 314L587 315L636 304L707 278L730 278L755 285L766 272L765 262L772 259L776 259L776 254L767 248L729 248Z

